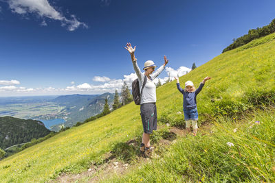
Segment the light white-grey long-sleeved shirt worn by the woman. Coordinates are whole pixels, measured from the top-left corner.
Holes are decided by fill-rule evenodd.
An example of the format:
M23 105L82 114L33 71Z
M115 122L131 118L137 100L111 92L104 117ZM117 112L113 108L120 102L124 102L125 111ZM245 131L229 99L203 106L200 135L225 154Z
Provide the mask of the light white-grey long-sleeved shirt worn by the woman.
M159 69L155 71L155 73L151 74L151 80L147 78L147 82L143 88L142 91L142 84L144 82L145 73L142 73L140 71L140 67L137 66L137 60L133 60L133 69L135 70L135 73L138 78L138 82L140 84L140 93L142 91L142 99L140 101L140 104L142 103L153 103L157 101L157 95L156 95L156 87L153 80L155 80L155 77L157 77L162 71L164 70L164 65L159 66Z

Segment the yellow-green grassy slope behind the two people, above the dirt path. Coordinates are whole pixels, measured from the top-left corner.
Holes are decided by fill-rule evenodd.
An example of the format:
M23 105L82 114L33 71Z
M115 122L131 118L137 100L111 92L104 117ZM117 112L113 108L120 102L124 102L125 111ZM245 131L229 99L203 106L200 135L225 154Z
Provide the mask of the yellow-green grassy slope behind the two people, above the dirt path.
M227 51L180 78L181 86L186 80L192 80L198 87L204 77L212 77L197 97L201 121L217 120L215 118L219 114L238 119L241 112L272 101L275 96L274 38L275 34L271 34ZM157 88L159 121L182 125L183 115L178 114L179 111L182 111L182 95L177 91L175 81ZM91 163L102 161L102 155L111 151L116 144L141 134L139 106L129 103L105 117L72 127L43 143L1 160L0 180L45 182L61 172L79 172L87 169ZM188 139L183 139L182 143ZM190 144L195 142L192 139ZM175 148L182 149L182 143L178 143L179 147ZM177 151L173 154L177 157ZM186 157L182 160L185 161Z

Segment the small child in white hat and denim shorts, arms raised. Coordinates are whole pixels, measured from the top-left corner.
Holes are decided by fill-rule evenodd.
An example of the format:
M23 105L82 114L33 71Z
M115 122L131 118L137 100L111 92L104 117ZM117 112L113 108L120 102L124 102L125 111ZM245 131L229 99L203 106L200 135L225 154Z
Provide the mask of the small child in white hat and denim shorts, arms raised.
M177 80L177 89L182 95L184 95L184 120L186 121L186 130L187 132L191 132L190 125L192 122L193 135L197 135L197 121L199 119L199 115L197 113L197 95L201 91L202 87L206 83L207 80L210 80L211 77L206 77L199 85L199 88L195 88L194 84L191 81L187 81L185 83L184 90L179 86L179 78L175 77Z

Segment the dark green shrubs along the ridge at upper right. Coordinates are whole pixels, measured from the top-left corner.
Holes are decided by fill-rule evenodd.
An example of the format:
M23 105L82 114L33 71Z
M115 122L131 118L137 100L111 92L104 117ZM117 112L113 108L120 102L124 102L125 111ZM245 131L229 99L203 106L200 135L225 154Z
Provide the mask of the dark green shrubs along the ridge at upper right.
M261 28L256 29L250 29L248 31L248 34L245 34L244 36L241 36L240 38L233 39L232 44L223 49L223 53L225 51L229 51L231 49L235 49L237 47L241 47L245 44L248 44L248 42L261 38L263 36L267 36L269 34L272 34L275 32L275 19L272 20L272 22L269 25L263 26Z

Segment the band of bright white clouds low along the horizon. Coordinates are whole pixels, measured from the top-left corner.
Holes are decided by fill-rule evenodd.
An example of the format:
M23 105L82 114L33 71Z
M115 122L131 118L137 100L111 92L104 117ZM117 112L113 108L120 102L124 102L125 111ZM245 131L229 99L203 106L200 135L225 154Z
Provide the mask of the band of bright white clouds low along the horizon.
M173 69L171 67L167 67L165 72L166 76L161 78L157 77L154 82L160 82L164 84L168 80L168 75L170 73L170 80L173 80L174 76L186 74L191 69L188 69L185 66L179 67L179 69ZM72 86L67 86L66 88L54 88L54 87L47 87L47 88L26 88L23 86L17 87L14 86L15 84L20 84L17 80L11 81L0 81L0 84L7 85L0 87L0 95L1 96L17 96L17 95L70 95L70 94L100 94L100 93L115 93L115 90L118 92L121 91L123 82L128 84L129 88L131 88L131 83L133 80L137 78L135 73L130 73L129 75L123 75L123 79L110 79L109 77L100 77L96 76L93 78L94 81L102 82L100 84L88 84L83 83L79 85L74 85L75 82L71 82Z

